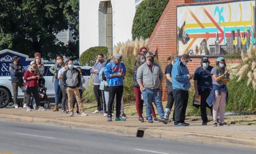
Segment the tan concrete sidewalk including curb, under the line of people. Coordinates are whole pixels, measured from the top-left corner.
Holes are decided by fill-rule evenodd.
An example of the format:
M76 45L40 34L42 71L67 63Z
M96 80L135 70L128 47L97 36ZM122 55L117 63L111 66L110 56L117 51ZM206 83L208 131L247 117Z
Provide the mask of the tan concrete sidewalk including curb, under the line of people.
M26 108L0 109L0 119L11 121L86 128L133 137L138 132L139 136L146 138L256 148L256 125L232 124L229 127L213 127L213 123L202 126L201 122L187 121L190 123L188 127L174 127L173 123L148 123L147 121L139 123L137 116L128 116L127 121L107 122L107 118L103 117L103 114L88 114L89 116L74 115L74 117L69 117L69 114L62 114L60 111L53 112L52 109L47 111L32 110L32 112L27 112Z

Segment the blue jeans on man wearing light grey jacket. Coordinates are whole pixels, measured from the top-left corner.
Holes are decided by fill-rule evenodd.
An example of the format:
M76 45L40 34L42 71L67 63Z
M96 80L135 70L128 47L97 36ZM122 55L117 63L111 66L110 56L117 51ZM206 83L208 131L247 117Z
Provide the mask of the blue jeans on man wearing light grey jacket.
M142 91L143 100L145 102L146 116L148 119L152 119L151 103L154 102L157 108L157 112L160 118L164 118L165 112L161 101L161 90L160 89L148 89Z

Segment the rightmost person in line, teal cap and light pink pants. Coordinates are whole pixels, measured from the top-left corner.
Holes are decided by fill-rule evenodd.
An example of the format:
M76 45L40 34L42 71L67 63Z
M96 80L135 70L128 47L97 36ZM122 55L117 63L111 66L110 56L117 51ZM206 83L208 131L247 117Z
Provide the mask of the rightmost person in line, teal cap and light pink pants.
M229 126L224 122L225 106L228 103L229 70L226 68L224 57L217 58L216 66L212 71L213 88L206 102L209 106L213 105L213 126L218 124L219 109L219 126Z

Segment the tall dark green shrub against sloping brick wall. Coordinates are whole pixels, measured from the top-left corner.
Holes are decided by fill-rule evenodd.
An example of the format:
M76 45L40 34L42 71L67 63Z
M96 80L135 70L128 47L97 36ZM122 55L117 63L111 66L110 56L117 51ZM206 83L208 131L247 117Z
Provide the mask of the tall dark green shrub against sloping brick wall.
M169 0L143 0L136 10L132 36L133 40L149 38Z

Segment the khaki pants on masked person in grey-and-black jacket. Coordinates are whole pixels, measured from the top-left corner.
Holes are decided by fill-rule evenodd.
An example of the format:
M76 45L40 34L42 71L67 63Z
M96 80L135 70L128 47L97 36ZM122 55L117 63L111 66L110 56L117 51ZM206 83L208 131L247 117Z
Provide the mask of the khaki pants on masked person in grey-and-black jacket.
M75 95L76 102L79 106L80 113L85 112L81 98L80 98L80 93L78 87L75 87L74 89L67 87L67 94L68 94L68 105L69 105L69 112L74 112L74 108L72 105L72 99L73 99L73 94Z

